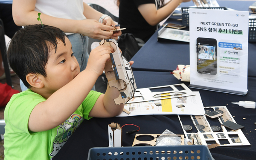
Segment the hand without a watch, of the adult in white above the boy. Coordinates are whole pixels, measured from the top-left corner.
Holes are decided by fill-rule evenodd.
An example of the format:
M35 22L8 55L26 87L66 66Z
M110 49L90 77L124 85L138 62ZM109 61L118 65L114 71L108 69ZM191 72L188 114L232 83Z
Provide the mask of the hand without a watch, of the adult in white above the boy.
M77 33L84 34L88 37L95 39L110 39L113 35L114 28L102 23L99 23L97 20L80 20L78 24Z

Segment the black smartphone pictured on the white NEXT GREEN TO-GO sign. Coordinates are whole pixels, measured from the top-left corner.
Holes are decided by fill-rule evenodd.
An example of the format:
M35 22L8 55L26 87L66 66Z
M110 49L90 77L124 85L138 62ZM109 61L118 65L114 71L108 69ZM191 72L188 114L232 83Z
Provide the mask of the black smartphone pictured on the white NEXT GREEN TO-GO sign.
M197 71L201 74L217 74L217 40L213 38L196 39Z

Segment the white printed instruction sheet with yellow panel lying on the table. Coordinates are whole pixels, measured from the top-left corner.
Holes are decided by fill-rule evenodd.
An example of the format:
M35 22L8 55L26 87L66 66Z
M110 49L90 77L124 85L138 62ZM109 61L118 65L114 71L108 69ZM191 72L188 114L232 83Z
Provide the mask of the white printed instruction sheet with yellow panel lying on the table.
M178 90L175 86L182 86L184 90ZM173 92L186 92L183 95L193 95L193 96L182 96L176 95L172 99L162 99L162 100L151 100L152 97L160 95L169 94L170 91L165 92L152 92L152 89L171 87ZM139 97L136 97L139 96ZM122 112L119 117L126 116L137 116L137 115L149 115L149 114L187 114L187 115L204 115L204 106L201 100L200 93L198 91L191 91L184 84L169 85L169 86L159 86L151 88L137 89L135 92L136 101L139 100L151 100L147 102L140 103L128 103L125 104L125 109L130 111L130 114ZM162 97L162 98L166 98ZM157 106L155 103L161 103L161 106ZM176 107L176 105L184 105L185 107Z

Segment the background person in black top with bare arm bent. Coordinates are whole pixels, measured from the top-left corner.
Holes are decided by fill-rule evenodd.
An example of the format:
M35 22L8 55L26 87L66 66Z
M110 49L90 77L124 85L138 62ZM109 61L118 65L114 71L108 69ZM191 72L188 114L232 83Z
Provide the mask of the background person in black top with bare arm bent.
M132 33L147 41L157 30L157 25L166 19L183 2L190 0L117 0L119 24L126 28L122 33Z

